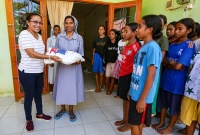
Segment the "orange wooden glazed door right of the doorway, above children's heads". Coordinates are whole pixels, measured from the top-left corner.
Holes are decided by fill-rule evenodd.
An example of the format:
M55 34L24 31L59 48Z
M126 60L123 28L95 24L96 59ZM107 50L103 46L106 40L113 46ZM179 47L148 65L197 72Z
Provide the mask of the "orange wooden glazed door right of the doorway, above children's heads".
M130 2L122 2L122 3L117 3L117 4L109 4L108 7L108 31L112 28L114 28L115 21L117 19L121 19L125 17L126 21L132 19L133 16L119 16L116 18L115 10L123 10L126 13L130 13L130 8L134 7L135 8L135 14L134 14L134 21L139 22L141 19L141 11L142 11L142 0L133 0ZM124 13L122 13L124 14ZM123 19L122 19L123 20Z

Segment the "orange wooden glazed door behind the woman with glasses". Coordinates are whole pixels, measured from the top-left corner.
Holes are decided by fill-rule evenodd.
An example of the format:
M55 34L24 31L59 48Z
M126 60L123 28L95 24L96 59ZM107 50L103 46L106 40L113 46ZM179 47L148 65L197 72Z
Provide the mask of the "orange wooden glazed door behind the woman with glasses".
M14 84L15 101L19 101L23 96L23 87L18 77L18 63L20 62L20 52L18 46L18 35L25 29L25 17L28 12L39 12L43 17L43 27L41 35L46 45L47 41L47 11L46 0L5 0L6 15L8 24L8 37L10 46L11 66ZM47 68L44 69L43 93L48 93Z

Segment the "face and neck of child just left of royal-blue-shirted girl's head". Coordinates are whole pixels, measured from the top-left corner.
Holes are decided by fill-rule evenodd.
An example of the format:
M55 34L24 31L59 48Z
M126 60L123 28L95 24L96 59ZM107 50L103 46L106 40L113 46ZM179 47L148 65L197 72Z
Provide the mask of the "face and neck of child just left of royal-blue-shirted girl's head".
M167 35L168 40L169 40L169 45L171 43L174 43L177 40L177 38L175 36L176 23L177 22L174 21L174 22L170 22L167 25L166 35Z

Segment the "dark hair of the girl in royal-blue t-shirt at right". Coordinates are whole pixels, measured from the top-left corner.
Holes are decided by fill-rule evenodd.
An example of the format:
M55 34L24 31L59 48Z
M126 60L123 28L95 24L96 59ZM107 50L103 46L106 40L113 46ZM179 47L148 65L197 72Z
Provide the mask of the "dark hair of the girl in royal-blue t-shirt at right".
M183 18L179 20L178 23L182 23L187 29L192 29L192 31L188 34L188 38L193 38L196 36L195 22L192 18Z

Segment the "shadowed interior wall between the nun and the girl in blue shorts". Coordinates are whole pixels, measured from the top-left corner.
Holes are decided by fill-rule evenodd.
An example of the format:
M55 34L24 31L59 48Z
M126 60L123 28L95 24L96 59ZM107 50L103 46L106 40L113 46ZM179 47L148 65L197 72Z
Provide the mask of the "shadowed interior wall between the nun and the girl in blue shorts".
M106 25L108 6L99 5L84 19L85 58L92 59L92 41L98 36L98 26Z

